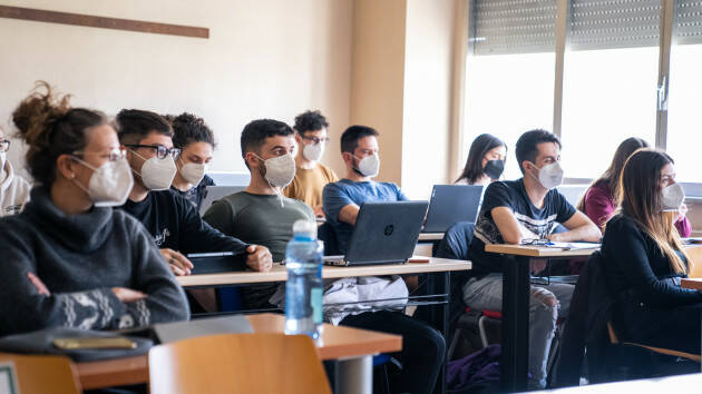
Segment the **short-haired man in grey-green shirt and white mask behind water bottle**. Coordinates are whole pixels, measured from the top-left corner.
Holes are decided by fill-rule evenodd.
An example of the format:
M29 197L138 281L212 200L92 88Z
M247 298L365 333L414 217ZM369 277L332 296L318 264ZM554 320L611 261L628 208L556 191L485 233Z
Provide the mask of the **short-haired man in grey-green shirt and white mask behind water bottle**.
M241 145L251 171L248 187L213 204L203 218L228 236L267 247L280 263L293 236L293 223L314 221L312 208L281 194L295 176L294 131L282 121L254 120L244 127ZM269 299L276 288L275 284L242 287L244 306L272 307Z

